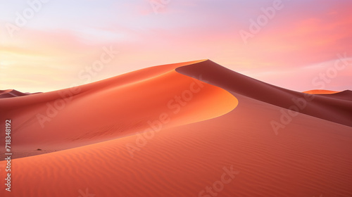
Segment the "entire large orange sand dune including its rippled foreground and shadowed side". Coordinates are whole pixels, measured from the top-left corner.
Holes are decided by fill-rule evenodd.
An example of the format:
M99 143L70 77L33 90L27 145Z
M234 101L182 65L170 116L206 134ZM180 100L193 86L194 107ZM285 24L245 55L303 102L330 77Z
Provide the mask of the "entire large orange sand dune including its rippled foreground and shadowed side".
M352 196L352 91L308 93L203 60L2 97L16 159L0 193Z

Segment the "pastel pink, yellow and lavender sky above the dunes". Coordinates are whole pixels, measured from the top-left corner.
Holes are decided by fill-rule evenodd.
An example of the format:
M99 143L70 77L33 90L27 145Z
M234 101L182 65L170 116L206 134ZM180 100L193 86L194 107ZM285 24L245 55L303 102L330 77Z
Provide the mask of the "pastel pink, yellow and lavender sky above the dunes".
M352 89L351 0L0 0L0 89L54 91L210 59L279 87Z

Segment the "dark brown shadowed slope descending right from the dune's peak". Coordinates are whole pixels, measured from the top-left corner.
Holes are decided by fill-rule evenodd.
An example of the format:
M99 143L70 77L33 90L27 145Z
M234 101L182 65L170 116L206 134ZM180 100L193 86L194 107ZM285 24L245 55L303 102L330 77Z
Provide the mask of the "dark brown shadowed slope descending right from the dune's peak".
M334 98L332 95L310 95L275 87L233 72L209 60L177 68L176 70L188 76L201 75L202 79L209 84L258 101L282 108L298 110L299 113L352 127L352 102L348 100Z

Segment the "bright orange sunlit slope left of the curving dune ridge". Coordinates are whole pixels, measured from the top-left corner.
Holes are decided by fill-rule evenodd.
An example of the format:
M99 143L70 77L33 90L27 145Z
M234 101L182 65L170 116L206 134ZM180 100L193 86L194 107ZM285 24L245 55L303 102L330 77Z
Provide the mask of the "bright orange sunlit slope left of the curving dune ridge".
M182 65L147 68L74 89L1 99L0 109L6 111L1 116L15 122L17 157L143 132L156 121L167 122L163 127L199 122L237 106L229 92L175 72ZM37 148L43 151L34 151Z

